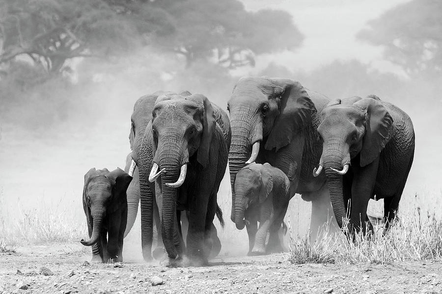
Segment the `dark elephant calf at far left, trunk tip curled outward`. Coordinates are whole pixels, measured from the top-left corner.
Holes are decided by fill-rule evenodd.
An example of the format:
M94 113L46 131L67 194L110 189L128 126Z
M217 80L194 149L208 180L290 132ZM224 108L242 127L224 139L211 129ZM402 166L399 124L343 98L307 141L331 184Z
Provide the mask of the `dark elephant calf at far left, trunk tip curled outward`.
M86 214L92 262L123 261L123 238L127 223L126 190L132 176L117 168L92 168L84 175L83 209Z

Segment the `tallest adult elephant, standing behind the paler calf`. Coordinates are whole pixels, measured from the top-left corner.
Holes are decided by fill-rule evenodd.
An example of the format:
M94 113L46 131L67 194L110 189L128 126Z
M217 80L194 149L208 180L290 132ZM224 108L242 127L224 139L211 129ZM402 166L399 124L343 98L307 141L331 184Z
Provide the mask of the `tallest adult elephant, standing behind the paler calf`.
M237 172L251 162L268 162L287 175L290 197L299 193L304 200L312 201L310 229L312 238L316 236L319 227L327 221L328 210L331 214L326 178L314 177L311 173L322 151L316 132L317 110L321 111L329 101L292 79L243 77L238 81L228 101L232 129L229 151L232 221L237 217L234 211L238 211L234 207ZM270 228L270 251L281 249L277 231L287 205ZM239 229L241 226L238 227L237 222ZM270 240L274 243L270 244Z

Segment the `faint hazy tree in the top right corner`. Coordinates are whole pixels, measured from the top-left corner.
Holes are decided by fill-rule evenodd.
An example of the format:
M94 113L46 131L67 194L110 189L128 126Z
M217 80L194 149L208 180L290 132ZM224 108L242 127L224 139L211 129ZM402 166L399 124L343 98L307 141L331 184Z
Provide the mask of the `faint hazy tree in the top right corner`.
M357 37L385 48L408 74L442 73L442 1L412 0L368 23Z

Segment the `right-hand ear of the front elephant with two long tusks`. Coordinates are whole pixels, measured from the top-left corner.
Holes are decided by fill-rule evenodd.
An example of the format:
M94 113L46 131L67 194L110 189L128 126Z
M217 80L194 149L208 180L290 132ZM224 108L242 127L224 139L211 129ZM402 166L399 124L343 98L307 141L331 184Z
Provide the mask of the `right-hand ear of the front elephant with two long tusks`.
M213 112L212 104L204 95L193 94L192 96L186 97L186 99L202 104L203 106L203 134L201 136L196 159L199 164L205 168L209 162L210 145L212 144L213 132L216 127L215 114Z

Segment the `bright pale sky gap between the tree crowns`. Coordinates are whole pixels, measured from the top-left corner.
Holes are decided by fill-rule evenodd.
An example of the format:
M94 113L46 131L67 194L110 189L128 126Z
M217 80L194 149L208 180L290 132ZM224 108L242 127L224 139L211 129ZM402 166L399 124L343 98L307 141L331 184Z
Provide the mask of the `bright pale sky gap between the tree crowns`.
M359 59L381 71L400 73L382 59L382 49L360 42L356 34L367 21L408 0L242 0L247 10L281 9L293 15L304 34L300 49L268 54L257 59L254 71L271 61L295 70L311 71L335 59Z

